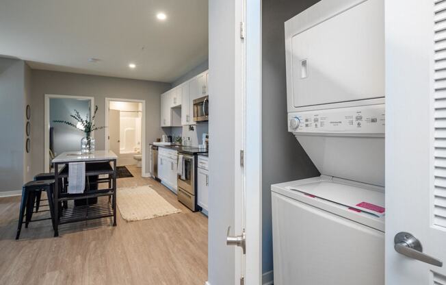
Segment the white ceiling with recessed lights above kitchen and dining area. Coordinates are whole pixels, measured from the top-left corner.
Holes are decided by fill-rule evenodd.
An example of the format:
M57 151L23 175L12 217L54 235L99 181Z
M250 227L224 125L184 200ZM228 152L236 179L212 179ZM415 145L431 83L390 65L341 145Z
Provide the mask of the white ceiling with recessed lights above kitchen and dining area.
M207 2L0 0L0 55L31 69L173 82L207 60Z

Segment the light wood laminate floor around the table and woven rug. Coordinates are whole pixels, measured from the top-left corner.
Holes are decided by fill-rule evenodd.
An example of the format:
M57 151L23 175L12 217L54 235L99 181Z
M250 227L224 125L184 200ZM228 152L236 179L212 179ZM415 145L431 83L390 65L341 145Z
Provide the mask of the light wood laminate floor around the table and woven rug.
M127 222L118 211L117 227L111 219L63 225L57 238L49 220L39 221L23 226L17 241L20 198L0 198L0 284L205 284L207 217L141 169L129 170L134 177L118 179L118 188L152 185L182 212Z

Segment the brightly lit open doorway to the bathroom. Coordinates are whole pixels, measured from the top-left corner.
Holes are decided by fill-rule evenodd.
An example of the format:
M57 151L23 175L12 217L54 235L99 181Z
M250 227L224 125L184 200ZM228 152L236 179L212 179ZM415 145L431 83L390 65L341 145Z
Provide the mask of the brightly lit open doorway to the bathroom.
M136 166L146 174L144 100L105 99L105 150L118 156L118 166Z

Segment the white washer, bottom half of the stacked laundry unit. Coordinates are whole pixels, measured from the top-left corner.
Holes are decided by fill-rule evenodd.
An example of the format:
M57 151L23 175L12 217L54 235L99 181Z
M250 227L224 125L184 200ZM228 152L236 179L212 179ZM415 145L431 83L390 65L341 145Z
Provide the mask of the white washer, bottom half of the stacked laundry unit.
M324 175L272 186L274 284L384 284L384 216L356 206L384 206L381 191Z

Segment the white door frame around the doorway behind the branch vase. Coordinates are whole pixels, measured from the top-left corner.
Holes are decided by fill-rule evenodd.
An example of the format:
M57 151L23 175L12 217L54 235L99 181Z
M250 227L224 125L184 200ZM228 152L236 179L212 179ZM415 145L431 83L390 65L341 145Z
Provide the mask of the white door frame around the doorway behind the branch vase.
M71 95L56 95L56 94L45 94L44 97L44 172L49 172L49 99L81 99L90 100L90 115L94 114L94 97L90 96L71 96ZM92 138L94 138L94 132L92 132ZM80 143L80 142L79 142Z

